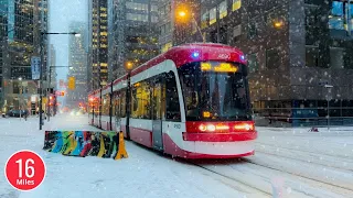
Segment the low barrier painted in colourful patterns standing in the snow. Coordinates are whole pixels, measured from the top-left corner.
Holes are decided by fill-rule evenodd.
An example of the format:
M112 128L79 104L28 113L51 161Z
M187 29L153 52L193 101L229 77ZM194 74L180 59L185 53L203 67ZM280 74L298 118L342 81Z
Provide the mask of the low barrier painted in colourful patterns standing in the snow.
M43 150L69 156L128 157L122 132L45 131Z

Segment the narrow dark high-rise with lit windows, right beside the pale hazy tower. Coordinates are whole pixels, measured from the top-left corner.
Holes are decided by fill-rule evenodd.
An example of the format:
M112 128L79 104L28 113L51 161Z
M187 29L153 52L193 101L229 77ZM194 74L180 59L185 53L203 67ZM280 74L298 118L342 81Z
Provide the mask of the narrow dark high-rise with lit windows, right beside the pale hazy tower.
M108 81L108 0L88 3L89 21L89 90L100 88Z

